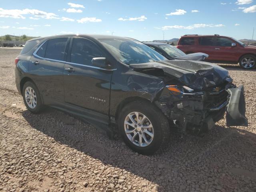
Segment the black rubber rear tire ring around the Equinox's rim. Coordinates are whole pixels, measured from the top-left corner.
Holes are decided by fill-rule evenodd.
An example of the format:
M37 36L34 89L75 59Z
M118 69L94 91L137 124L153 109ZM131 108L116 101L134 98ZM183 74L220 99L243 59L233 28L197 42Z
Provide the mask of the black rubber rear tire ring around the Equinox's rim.
M30 108L26 102L25 99L25 90L27 87L31 87L33 88L33 90L36 92L36 107L35 108ZM23 96L23 101L24 104L26 105L26 108L32 112L32 113L38 113L41 109L42 109L42 99L40 96L40 92L38 90L38 88L36 87L36 85L30 81L26 82L22 88L22 96Z

